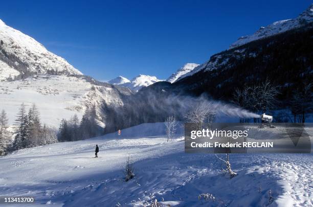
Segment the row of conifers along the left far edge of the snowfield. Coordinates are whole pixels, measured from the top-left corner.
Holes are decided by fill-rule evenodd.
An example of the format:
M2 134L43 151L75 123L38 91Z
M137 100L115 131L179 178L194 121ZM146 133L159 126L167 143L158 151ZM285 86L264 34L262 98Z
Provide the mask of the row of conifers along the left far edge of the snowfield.
M0 156L9 152L57 142L85 140L103 134L97 121L96 107L85 110L81 121L75 114L70 120L62 119L59 131L41 124L40 113L35 104L27 111L22 103L16 115L13 129L9 130L5 110L0 113ZM12 139L13 138L13 139Z

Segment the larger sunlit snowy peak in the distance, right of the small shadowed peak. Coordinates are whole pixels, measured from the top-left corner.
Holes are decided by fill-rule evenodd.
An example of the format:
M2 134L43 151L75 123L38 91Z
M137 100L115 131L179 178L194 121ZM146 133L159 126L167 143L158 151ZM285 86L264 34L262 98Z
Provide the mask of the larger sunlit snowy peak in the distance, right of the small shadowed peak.
M131 90L137 92L140 88L149 86L149 85L156 83L156 82L159 82L159 81L163 81L163 80L159 80L155 76L148 76L148 75L141 75L140 74L136 78L131 79L129 83L121 84L121 86L128 87Z

